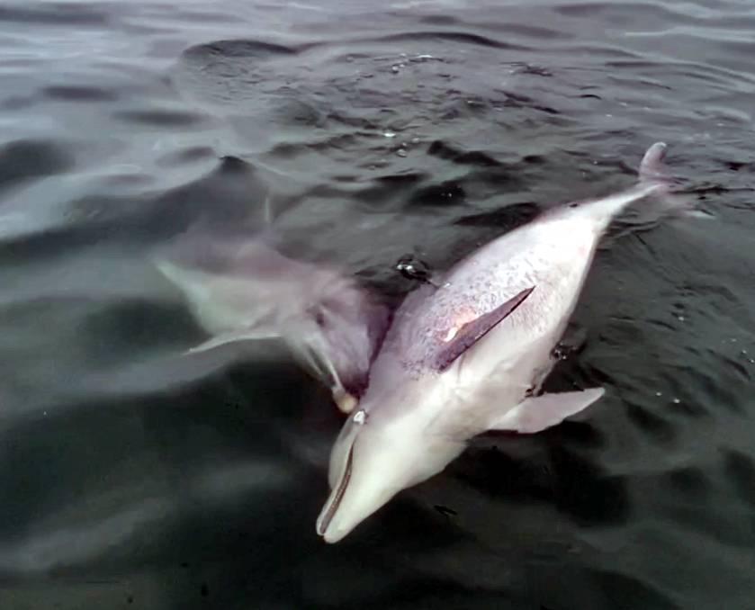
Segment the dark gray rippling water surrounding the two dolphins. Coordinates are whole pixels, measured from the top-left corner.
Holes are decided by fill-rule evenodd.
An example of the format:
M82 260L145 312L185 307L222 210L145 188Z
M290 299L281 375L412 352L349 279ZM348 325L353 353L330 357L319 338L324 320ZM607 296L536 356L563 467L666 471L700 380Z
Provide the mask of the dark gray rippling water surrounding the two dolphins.
M747 0L5 2L0 608L755 607L753 31ZM182 357L151 253L269 197L284 248L396 302L400 256L659 139L715 219L605 242L547 385L607 398L322 543L327 391Z

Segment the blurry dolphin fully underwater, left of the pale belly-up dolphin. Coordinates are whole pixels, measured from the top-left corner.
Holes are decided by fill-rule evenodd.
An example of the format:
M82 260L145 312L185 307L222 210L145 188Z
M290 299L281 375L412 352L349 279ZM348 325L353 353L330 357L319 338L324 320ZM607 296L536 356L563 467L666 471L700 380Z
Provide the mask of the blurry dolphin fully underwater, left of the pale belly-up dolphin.
M259 237L190 231L157 268L211 338L189 353L280 338L338 408L354 408L387 325L387 311L335 268L283 256Z

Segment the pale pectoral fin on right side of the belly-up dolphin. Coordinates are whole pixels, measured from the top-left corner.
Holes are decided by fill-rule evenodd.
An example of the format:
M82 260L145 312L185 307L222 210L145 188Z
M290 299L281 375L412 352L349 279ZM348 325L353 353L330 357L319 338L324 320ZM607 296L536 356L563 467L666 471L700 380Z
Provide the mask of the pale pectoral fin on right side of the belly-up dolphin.
M558 394L543 394L524 399L515 408L490 422L490 430L509 430L520 434L533 434L556 426L582 409L588 408L606 392L591 388Z

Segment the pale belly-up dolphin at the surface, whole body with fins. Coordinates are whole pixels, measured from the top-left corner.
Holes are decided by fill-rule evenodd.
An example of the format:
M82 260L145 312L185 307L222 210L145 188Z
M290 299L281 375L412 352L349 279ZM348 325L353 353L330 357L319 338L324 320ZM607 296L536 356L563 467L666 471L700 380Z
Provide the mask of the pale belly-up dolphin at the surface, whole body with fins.
M648 149L633 188L547 211L409 294L333 447L317 521L326 542L442 471L472 436L539 432L603 395L537 394L608 223L648 195L671 201L665 151Z

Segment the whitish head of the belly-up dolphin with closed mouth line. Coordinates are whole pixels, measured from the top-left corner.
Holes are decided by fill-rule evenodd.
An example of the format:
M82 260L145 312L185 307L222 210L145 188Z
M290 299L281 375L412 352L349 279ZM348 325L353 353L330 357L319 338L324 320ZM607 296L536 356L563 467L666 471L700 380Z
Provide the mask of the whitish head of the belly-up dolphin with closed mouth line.
M445 468L464 444L429 431L427 417L414 409L362 408L341 430L330 454L330 496L317 532L337 543L401 489Z

